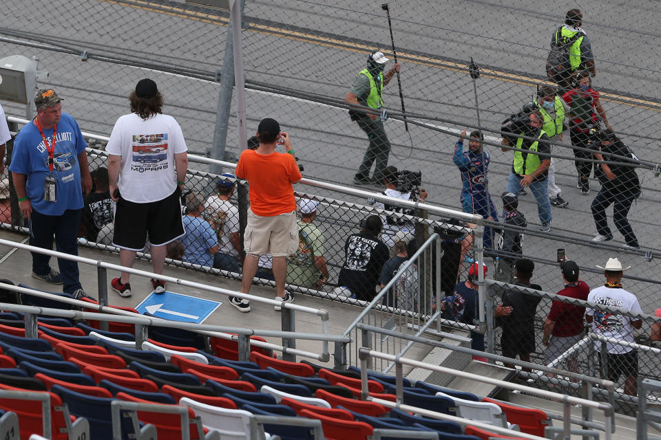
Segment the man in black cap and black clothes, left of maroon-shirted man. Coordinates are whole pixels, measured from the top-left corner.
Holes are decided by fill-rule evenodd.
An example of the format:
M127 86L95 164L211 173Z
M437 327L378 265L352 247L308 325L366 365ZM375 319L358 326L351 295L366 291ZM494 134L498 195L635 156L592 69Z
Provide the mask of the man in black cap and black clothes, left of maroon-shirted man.
M516 279L518 281L515 285L541 290L540 285L530 283L534 270L535 263L532 260L520 259L516 261ZM508 290L503 294L501 309L512 307L509 316L499 319L503 326L501 349L503 350L503 356L506 358L514 359L518 355L522 361L530 362L530 353L535 351L536 347L535 314L541 299L541 296L532 296L518 289ZM505 366L514 368L514 364L505 363ZM523 371L529 372L530 369L524 368Z

